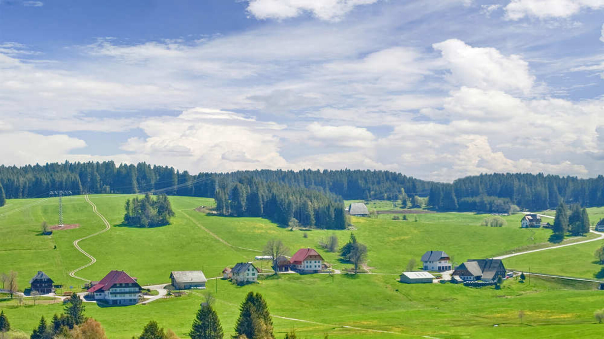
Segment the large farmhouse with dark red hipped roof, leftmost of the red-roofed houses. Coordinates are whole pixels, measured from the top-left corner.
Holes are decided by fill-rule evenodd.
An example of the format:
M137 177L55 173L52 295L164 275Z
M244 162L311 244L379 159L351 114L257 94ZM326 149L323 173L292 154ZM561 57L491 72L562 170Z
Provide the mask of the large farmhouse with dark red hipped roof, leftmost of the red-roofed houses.
M89 288L88 293L94 300L104 300L109 305L133 305L141 295L141 285L124 271L111 271Z

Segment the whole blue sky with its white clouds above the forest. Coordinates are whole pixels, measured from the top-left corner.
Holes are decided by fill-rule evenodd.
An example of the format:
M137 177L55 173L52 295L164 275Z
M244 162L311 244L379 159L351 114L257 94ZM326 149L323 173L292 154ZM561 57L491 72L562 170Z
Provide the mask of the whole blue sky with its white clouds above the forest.
M604 0L0 0L2 163L604 170Z

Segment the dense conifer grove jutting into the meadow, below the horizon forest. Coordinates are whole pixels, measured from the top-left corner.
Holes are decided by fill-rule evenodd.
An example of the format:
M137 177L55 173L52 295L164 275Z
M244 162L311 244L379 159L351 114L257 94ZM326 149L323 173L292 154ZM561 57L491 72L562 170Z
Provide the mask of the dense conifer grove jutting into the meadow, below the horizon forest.
M345 229L344 204L312 189L264 182L251 177L223 182L214 196L216 211L237 217L265 217L283 225Z

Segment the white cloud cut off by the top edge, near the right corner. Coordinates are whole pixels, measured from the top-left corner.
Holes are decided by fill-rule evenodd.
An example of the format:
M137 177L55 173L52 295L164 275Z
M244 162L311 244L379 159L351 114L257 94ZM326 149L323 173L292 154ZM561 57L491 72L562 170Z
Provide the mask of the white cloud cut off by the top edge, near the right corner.
M519 20L523 17L539 19L570 17L590 8L604 8L604 0L512 0L506 5L506 18Z

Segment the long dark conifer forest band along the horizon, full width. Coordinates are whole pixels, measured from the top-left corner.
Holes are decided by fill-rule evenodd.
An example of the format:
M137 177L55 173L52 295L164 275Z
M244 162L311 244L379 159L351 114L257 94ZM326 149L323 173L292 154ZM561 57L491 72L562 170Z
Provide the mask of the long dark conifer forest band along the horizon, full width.
M481 174L438 183L390 171L255 170L190 174L169 166L116 165L106 162L64 162L0 166L0 206L5 198L33 198L49 191L87 193L164 192L213 198L235 183L252 178L292 189L309 189L342 199L411 200L429 196L428 204L442 211L508 212L543 210L561 203L604 206L604 176L591 179L544 174Z

